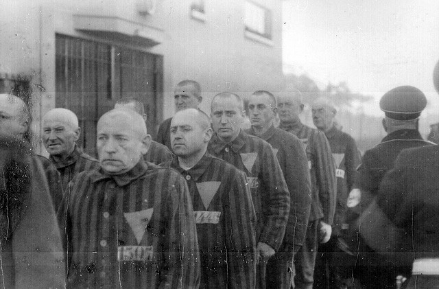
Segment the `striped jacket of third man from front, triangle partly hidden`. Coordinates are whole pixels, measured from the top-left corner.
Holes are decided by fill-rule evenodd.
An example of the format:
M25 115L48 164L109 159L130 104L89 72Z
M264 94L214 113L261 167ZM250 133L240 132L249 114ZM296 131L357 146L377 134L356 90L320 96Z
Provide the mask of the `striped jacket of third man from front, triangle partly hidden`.
M278 250L287 226L289 192L270 144L241 131L230 143L213 135L208 150L247 174L257 216L257 242Z

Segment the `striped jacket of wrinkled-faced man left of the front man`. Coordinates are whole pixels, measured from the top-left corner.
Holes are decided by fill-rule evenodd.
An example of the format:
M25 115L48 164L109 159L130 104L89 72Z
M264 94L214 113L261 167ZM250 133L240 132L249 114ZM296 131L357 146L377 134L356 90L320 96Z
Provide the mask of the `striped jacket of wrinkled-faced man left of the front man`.
M73 152L64 161L56 161L54 157L50 156L49 160L55 165L61 175L61 185L65 192L69 181L80 172L93 170L99 167L99 161L93 159L85 152L75 145Z

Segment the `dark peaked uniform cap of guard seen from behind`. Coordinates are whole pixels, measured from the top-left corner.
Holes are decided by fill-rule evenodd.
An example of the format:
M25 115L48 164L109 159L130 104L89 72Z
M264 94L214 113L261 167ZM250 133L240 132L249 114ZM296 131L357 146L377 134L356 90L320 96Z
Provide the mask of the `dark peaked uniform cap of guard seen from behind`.
M416 119L427 106L424 93L413 86L399 86L381 97L379 107L391 119Z

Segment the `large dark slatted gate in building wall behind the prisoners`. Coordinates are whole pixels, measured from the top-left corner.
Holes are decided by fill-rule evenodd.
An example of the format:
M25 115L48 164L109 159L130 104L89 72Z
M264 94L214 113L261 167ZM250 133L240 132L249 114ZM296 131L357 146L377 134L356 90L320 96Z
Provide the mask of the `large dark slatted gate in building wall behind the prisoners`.
M95 154L96 124L121 97L145 105L147 130L154 137L161 118L163 58L143 51L56 35L56 107L78 116L78 142Z

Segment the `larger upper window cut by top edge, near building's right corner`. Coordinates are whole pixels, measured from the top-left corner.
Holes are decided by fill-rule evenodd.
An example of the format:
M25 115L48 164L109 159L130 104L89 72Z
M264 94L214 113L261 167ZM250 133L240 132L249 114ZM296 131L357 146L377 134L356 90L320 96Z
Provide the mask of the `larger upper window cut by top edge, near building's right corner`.
M256 34L263 38L272 38L272 14L271 11L250 1L245 2L246 35Z

